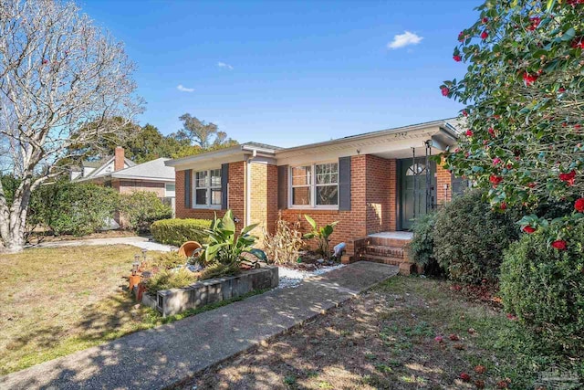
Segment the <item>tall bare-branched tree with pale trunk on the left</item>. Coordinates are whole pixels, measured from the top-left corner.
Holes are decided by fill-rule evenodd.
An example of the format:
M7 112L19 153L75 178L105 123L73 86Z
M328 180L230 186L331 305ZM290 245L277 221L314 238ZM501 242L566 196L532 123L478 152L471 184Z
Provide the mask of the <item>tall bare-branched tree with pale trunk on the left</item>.
M20 180L11 203L0 182L0 251L22 250L31 191L61 174L53 163L74 157L69 146L117 134L141 112L133 70L77 5L0 2L0 167Z

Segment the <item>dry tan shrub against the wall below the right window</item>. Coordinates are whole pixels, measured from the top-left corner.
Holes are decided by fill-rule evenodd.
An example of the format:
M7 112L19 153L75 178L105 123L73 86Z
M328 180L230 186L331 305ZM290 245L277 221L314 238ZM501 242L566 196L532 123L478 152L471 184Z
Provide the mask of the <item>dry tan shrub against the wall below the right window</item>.
M298 251L303 245L299 227L299 222L290 226L282 219L282 216L279 216L274 235L264 230L264 250L270 262L286 264L297 260Z

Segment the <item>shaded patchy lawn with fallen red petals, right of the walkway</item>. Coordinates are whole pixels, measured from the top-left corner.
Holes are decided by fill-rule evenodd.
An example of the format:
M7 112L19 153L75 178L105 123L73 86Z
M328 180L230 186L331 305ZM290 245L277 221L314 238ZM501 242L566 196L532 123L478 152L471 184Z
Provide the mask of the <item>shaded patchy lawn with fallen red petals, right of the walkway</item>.
M505 313L449 286L390 279L184 388L532 388L548 358Z

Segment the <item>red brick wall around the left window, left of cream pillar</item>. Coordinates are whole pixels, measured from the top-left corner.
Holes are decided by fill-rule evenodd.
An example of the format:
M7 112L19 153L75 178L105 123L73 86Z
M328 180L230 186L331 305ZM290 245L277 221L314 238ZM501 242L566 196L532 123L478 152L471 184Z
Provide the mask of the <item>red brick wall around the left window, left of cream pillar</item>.
M213 219L215 212L217 216L224 216L224 210L185 208L184 171L176 171L175 179L177 218ZM240 220L237 228L243 228L245 223L245 162L243 161L229 164L229 207Z

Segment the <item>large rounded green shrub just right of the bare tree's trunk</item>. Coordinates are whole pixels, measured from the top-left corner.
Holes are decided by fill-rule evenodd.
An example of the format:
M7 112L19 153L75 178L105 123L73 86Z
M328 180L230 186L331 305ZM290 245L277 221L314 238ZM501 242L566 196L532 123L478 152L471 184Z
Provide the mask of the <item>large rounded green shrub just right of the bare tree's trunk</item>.
M60 181L33 192L29 223L48 227L57 235L82 236L106 227L118 206L119 195L112 188Z

